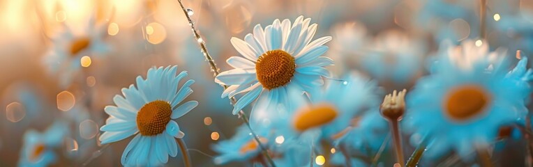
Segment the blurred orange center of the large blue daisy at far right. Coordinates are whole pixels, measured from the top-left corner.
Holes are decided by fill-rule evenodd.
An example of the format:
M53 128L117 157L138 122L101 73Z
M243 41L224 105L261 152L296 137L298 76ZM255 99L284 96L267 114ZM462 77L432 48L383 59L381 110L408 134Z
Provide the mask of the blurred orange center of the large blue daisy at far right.
M460 86L449 93L444 111L453 120L467 120L483 113L489 100L490 95L479 86Z

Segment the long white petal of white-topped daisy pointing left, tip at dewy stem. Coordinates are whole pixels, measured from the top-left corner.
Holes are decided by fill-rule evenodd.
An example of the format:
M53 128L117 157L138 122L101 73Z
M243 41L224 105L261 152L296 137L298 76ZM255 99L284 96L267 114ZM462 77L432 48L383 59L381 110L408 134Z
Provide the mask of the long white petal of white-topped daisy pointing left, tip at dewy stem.
M215 78L217 84L239 85L253 81L255 78L255 68L241 69L220 72Z

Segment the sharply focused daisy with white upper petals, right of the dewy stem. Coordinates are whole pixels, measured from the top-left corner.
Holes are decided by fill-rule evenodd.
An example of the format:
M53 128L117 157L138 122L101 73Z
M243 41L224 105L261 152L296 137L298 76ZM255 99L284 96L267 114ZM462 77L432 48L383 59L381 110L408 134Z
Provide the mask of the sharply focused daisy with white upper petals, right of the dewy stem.
M328 50L323 45L331 37L311 42L317 24L309 25L310 21L300 16L291 25L289 19L276 19L265 29L257 24L244 40L230 40L242 57L228 58L227 63L235 69L221 72L215 82L229 86L222 97L246 93L235 104L233 114L257 99L250 120L269 122L257 111L264 108L256 106L276 104L279 113L270 114L283 114L292 111L287 90L310 91L324 84L322 77L329 76L324 66L333 65L333 61L321 55Z

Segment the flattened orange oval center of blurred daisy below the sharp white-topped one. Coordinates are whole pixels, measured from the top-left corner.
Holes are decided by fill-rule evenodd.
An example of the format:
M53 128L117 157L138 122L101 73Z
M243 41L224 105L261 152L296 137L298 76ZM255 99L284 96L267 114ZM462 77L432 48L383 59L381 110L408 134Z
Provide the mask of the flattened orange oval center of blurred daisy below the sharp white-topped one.
M338 115L334 106L320 104L303 109L294 118L294 128L300 132L313 127L320 127L334 120Z

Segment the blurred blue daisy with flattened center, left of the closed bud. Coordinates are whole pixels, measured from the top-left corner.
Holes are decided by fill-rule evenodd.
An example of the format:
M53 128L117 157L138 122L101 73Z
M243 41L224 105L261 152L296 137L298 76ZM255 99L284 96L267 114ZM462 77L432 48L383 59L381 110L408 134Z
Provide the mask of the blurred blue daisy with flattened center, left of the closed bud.
M316 130L319 140L312 141L331 141L342 136L341 132L352 125L353 118L379 105L376 92L380 90L375 81L357 74L349 74L340 81L327 81L323 90L310 97L310 104L300 104L299 109L285 121L290 125L283 125L279 131L289 129L299 134Z

